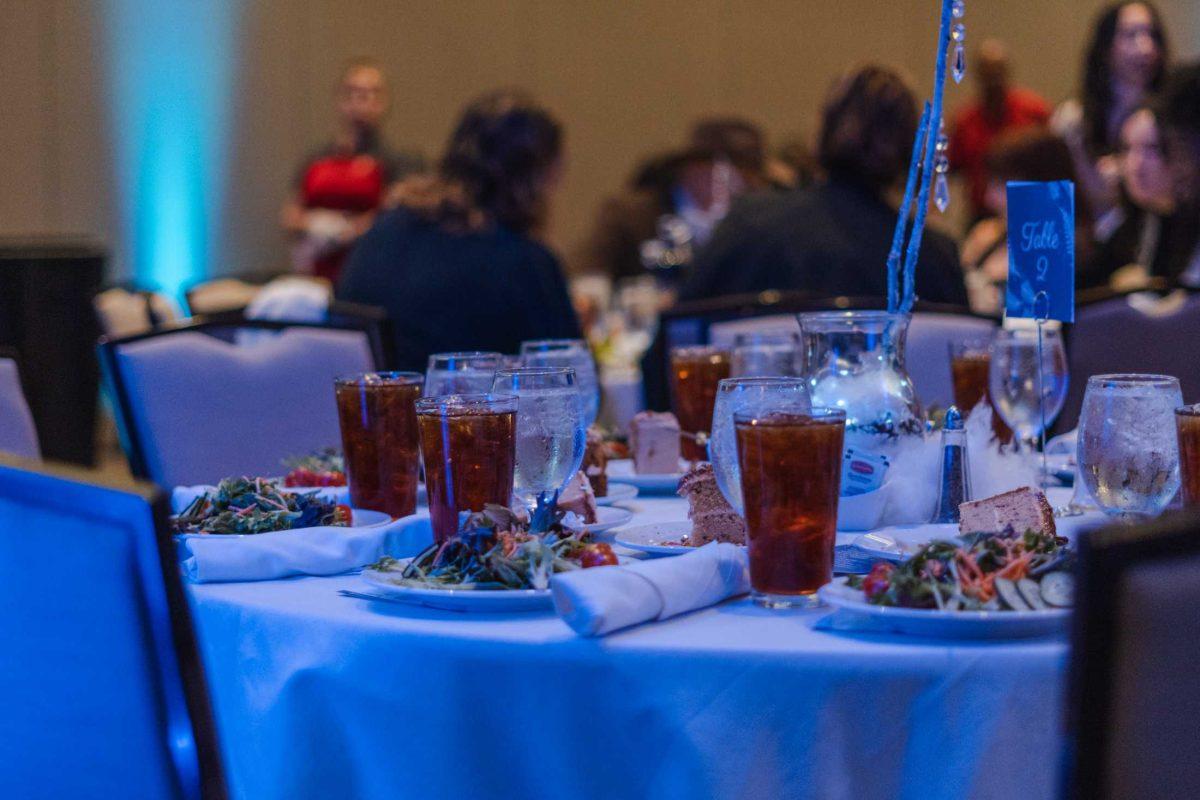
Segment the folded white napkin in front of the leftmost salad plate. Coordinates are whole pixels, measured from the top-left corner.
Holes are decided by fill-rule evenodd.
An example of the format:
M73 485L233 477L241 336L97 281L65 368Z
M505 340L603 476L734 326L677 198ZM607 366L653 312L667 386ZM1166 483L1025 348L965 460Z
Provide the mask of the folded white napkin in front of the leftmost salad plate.
M433 541L428 513L371 528L302 528L271 534L210 534L179 541L184 576L193 583L272 581L337 575L384 555L415 555Z

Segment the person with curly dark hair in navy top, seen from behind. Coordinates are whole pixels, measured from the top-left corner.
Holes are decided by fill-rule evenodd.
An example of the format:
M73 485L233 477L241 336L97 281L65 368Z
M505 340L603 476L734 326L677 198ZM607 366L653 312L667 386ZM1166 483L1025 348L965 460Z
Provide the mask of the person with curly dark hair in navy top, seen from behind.
M558 121L528 95L497 91L458 119L436 174L409 178L359 240L337 296L382 306L400 369L432 353L516 353L577 338L558 258L538 241L563 172Z

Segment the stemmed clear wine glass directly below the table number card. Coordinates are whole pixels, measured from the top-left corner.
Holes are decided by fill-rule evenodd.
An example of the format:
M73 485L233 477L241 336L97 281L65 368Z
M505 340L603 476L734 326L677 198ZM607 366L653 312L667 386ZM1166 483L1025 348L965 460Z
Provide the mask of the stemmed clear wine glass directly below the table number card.
M1049 427L1067 399L1067 351L1062 335L1042 336L1042 392L1045 419L1038 403L1038 332L1032 329L997 331L991 343L988 392L1001 419L1021 447L1034 450L1043 422Z

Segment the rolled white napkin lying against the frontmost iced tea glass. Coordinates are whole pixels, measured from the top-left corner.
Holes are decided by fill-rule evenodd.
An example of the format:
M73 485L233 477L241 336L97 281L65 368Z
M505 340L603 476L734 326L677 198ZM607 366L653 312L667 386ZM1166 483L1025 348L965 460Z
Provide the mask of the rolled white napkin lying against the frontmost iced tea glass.
M744 595L750 573L743 548L710 542L684 555L560 572L550 588L571 630L604 636Z

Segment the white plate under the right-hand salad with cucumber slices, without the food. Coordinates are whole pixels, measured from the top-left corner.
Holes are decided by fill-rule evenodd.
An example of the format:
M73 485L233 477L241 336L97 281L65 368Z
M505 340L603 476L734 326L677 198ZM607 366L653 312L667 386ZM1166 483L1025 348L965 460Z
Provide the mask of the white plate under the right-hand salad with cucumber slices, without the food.
M924 608L874 606L863 593L834 578L817 591L830 606L870 618L896 633L941 639L1013 639L1058 633L1070 619L1069 608L1033 612L940 612Z

